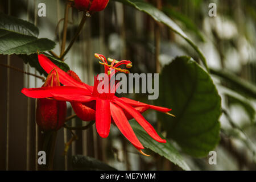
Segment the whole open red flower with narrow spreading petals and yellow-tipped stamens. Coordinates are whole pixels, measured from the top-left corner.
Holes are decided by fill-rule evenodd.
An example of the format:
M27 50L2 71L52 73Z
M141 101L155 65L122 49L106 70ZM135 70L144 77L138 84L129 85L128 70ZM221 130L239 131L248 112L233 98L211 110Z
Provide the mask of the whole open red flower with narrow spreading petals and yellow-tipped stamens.
M114 70L115 72L128 72L126 69L118 68L120 65L131 67L131 62L127 60L112 60L109 65L104 56L96 54L96 57L103 61L100 62L105 67L106 75ZM114 92L98 92L98 76L94 79L94 86L87 85L79 79L75 72L68 73L62 71L53 64L46 56L38 55L39 63L48 73L53 68L59 73L60 82L65 86L53 86L48 88L22 89L22 93L32 98L52 98L59 101L71 102L73 109L78 117L84 121L96 119L96 129L102 138L109 135L110 124L112 122L118 127L121 133L140 151L144 148L135 136L128 119L134 118L139 125L156 141L165 143L166 140L159 137L154 127L143 118L141 113L147 109L154 109L163 113L168 113L171 109L154 105L144 104L129 98L118 98ZM110 74L112 75L112 74ZM105 79L104 79L105 81ZM110 84L109 82L107 84ZM110 86L109 86L110 87ZM113 90L112 90L113 91ZM143 152L142 152L143 154Z

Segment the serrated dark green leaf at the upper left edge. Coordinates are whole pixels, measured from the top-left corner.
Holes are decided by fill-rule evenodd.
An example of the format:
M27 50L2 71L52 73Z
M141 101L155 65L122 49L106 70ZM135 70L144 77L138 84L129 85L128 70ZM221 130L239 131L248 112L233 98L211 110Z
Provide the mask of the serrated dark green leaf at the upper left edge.
M39 39L34 24L0 13L0 54L26 54L45 52L55 47L49 39Z

